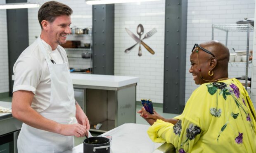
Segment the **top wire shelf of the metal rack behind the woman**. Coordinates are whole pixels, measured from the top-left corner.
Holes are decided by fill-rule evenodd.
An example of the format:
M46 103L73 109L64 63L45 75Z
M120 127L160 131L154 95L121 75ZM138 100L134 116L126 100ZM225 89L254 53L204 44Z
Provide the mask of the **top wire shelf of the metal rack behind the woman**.
M250 32L254 31L254 27L251 24L214 24L212 28L226 32L247 32L248 29Z

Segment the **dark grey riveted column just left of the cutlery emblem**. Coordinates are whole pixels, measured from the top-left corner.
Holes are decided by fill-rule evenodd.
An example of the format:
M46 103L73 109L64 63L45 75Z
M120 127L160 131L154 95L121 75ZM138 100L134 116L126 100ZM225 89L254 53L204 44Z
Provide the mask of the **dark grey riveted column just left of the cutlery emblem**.
M114 75L114 4L92 5L93 74Z

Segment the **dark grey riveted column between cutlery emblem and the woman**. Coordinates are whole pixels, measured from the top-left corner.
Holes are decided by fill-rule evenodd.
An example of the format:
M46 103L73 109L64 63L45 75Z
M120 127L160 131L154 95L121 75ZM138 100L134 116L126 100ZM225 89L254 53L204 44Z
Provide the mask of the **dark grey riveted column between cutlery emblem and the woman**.
M164 45L165 113L180 114L185 100L187 0L166 0Z

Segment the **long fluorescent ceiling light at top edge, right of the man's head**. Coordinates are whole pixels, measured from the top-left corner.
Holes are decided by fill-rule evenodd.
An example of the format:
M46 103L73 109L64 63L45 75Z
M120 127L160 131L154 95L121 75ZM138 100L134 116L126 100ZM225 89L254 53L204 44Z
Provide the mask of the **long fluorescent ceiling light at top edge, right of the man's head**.
M149 1L159 1L159 0L85 0L88 5L97 4L114 4L114 3L127 3L127 2L149 2Z

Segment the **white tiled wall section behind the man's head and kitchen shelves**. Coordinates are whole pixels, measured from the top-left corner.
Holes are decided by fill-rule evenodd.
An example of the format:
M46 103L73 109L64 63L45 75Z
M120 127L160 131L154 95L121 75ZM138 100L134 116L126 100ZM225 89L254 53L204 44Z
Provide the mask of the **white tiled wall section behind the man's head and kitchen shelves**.
M30 0L30 2L39 2L40 5L47 2L48 0ZM57 0L58 2L62 2L71 9L73 9L73 14L71 15L71 28L76 26L78 28L87 28L92 26L92 5L86 5L84 0ZM32 44L36 37L40 35L41 29L38 23L38 13L39 8L31 8L28 9L28 32L29 32L29 44ZM84 43L90 43L90 35L84 36L75 36L69 35L67 40L80 40L81 46ZM69 57L81 57L81 53L86 53L87 51L83 50L66 50L67 55ZM69 66L73 68L85 69L90 67L90 59L69 59Z

